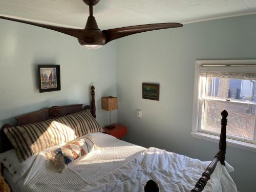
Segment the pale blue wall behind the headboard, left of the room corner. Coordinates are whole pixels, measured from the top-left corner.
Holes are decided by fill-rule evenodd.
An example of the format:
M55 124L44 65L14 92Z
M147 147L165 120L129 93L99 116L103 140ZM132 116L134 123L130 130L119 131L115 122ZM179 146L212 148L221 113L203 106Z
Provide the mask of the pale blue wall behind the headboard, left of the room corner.
M90 104L96 90L97 120L109 123L102 96L116 95L116 45L98 50L51 30L0 19L0 127L13 117L53 105ZM60 65L61 91L39 93L37 65ZM113 122L116 121L116 112Z

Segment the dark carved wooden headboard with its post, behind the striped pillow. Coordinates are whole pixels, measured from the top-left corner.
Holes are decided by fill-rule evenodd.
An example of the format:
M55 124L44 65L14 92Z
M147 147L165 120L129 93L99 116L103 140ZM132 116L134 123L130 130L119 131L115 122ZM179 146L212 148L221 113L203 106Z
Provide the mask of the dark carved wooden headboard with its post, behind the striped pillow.
M64 105L64 106L52 106L51 108L39 110L36 112L32 112L26 115L15 117L17 123L14 126L20 126L25 125L29 123L44 121L47 119L52 119L55 117L59 117L62 115L68 115L71 113L75 113L82 110L90 110L91 114L94 118L96 118L96 108L95 108L95 88L94 86L91 87L91 106L86 105L85 108L83 108L83 104L70 104L70 105ZM12 144L10 143L9 139L6 137L4 133L5 127L12 127L13 125L10 124L4 124L2 129L0 130L0 153L3 153L5 151L11 150L13 148Z

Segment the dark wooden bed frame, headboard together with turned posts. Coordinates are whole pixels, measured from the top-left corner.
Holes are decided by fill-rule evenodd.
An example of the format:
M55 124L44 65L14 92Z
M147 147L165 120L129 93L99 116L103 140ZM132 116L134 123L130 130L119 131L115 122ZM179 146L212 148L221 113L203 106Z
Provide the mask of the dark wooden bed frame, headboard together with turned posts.
M59 117L62 115L68 115L71 113L75 113L75 112L82 111L82 110L88 110L88 109L90 109L92 116L95 118L96 117L96 108L95 108L95 97L94 97L95 91L94 90L95 90L95 88L94 88L94 86L92 86L91 87L91 99L92 99L91 106L86 105L84 108L82 107L83 104L52 106L49 109L44 109L44 110L36 111L33 113L29 113L29 114L26 114L23 116L16 117L15 119L16 119L17 123L15 126L44 121L47 119L52 119L52 118ZM221 135L220 135L220 141L219 141L219 152L215 155L214 160L212 160L211 163L208 165L205 172L202 174L202 177L198 180L198 182L195 185L195 188L192 189L191 192L200 192L203 190L207 181L210 179L210 175L214 172L218 161L220 161L221 164L225 166L226 125L227 125L227 116L228 116L227 111L224 110L221 113L221 116L222 116L222 119L221 119ZM6 152L6 151L14 148L3 131L5 127L12 127L12 125L4 124L2 129L0 130L0 153ZM2 170L1 170L2 173L3 173L3 167L4 166L2 166ZM154 181L153 181L153 183L154 183ZM157 184L156 184L156 186L157 186ZM152 188L150 191L152 191ZM156 189L156 191L158 191L158 190Z

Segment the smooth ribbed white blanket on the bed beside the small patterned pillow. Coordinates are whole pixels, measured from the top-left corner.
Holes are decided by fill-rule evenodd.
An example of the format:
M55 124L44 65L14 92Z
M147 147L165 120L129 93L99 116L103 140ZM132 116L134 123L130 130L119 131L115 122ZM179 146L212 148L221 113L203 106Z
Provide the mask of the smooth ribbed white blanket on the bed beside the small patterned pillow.
M45 154L60 145L39 153L27 174L22 191L77 191L88 183L113 172L125 162L134 159L146 148L127 143L103 133L89 134L95 147L79 162L65 172L56 172Z

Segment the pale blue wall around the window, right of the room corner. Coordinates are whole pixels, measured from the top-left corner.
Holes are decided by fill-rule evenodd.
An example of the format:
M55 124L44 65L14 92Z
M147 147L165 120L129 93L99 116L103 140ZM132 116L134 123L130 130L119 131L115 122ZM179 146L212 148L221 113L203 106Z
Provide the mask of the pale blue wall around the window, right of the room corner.
M256 58L256 15L187 24L117 40L118 123L126 141L211 160L218 143L191 137L196 59ZM142 99L142 82L160 83L160 101ZM136 118L136 109L143 118ZM227 147L240 191L256 191L256 153Z

